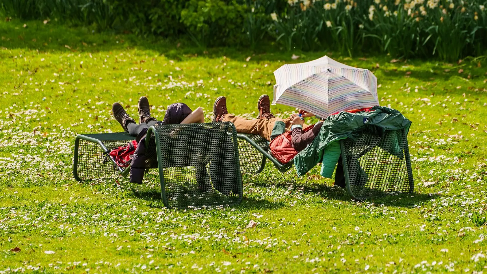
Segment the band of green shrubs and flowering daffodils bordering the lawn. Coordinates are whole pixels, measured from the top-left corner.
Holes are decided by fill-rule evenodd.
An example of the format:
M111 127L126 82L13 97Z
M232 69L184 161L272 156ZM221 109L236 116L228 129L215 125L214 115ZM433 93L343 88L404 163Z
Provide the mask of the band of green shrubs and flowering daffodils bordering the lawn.
M487 54L487 0L3 0L0 12L199 46L334 50L456 60Z

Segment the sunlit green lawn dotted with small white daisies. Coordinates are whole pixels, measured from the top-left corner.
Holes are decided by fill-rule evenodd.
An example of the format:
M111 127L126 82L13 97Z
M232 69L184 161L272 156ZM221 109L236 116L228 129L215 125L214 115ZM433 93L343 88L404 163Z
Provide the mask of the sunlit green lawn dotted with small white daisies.
M1 22L0 36L0 273L486 271L485 58L204 51L17 20ZM142 186L72 175L76 134L121 131L115 101L136 120L148 96L155 117L183 101L211 121L226 96L230 112L256 117L275 69L325 54L372 70L381 105L412 120L412 195L354 201L319 167L298 178L268 164L244 176L241 205L168 210L155 174Z

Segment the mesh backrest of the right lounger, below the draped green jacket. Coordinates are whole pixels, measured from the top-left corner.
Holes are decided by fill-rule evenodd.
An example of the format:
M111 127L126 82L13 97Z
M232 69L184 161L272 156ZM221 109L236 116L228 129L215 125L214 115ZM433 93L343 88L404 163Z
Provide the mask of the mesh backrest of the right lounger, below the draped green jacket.
M382 137L364 134L341 140L348 193L356 199L414 190L406 130L387 130Z

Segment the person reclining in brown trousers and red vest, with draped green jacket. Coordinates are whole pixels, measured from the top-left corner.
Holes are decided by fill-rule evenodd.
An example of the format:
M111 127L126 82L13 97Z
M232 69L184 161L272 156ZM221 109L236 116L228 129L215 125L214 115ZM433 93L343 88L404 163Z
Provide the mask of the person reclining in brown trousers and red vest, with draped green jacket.
M335 166L337 165L335 184L345 186L343 176L343 166L341 164L341 139L358 138L364 133L370 133L382 137L387 130L406 129L406 133L411 126L411 121L404 117L399 111L381 106L365 107L334 113L326 119L314 124L312 128L304 130L304 121L293 114L286 119L279 119L270 112L270 100L266 95L261 96L258 102L259 117L258 119L248 120L243 117L237 117L229 114L226 109L225 97L218 98L213 105L214 121L229 121L235 124L239 133L256 134L270 141L279 133L291 130L291 146L299 154L290 154L294 157L294 164L298 176L306 174L319 162L322 163L320 174L324 177L331 178ZM304 116L313 116L300 110ZM393 137L391 137L393 138ZM397 143L397 138L391 141ZM282 142L282 146L277 142L275 146L271 143L271 149L287 153L288 143ZM381 144L386 152L401 158L402 151L400 145L388 148ZM375 146L369 146L361 154L364 155L372 150ZM284 151L285 150L285 151ZM273 153L274 154L274 153ZM364 186L368 181L367 173L361 168L358 157L347 160L348 168L356 170L354 185Z

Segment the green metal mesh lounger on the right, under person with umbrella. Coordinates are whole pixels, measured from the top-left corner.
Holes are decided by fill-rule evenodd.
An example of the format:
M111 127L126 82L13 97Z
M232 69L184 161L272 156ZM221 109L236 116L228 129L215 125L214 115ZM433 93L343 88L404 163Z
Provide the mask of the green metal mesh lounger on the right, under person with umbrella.
M276 159L267 140L251 134L237 134L242 173L262 172L269 159L281 172L293 166ZM411 160L404 129L386 131L383 137L364 134L357 140L340 141L347 192L356 199L392 193L412 193Z

